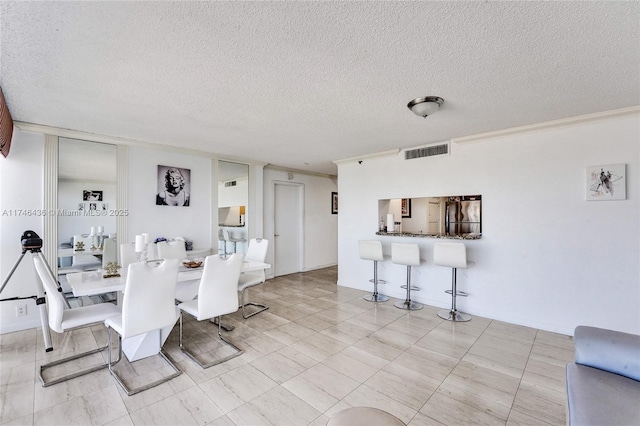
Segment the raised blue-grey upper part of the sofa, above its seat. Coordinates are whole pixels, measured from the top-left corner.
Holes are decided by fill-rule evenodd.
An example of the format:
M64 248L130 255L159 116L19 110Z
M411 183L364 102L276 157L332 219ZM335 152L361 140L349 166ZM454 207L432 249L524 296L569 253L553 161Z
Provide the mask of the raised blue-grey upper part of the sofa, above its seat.
M640 380L640 336L581 325L574 343L576 364Z

